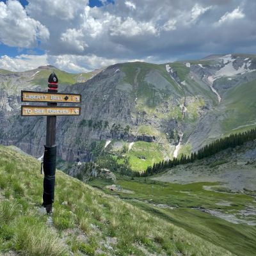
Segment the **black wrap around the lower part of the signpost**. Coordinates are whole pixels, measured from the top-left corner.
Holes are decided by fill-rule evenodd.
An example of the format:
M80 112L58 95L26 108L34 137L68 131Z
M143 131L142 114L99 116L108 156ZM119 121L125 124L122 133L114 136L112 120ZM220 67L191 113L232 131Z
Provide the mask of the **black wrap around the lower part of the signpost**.
M56 145L44 146L44 194L43 206L50 205L54 201L54 184L56 172Z

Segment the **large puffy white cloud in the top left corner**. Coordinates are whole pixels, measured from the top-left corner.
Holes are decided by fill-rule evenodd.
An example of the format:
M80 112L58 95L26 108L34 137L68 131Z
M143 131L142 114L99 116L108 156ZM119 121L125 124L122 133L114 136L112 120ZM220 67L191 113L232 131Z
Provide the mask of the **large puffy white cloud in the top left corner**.
M31 19L19 1L0 2L0 41L13 47L36 47L49 38L48 29Z

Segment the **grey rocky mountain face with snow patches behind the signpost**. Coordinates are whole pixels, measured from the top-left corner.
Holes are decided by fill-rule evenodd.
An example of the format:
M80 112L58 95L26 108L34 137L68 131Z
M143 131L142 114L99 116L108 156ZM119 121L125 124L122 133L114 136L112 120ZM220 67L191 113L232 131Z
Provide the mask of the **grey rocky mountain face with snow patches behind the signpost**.
M20 116L20 90L46 90L52 70L0 70L1 144L42 156L46 118ZM74 82L81 81L81 74L59 72L59 80L65 80L59 92L82 95L81 116L57 118L58 157L65 161L92 161L108 150L122 152L142 170L256 126L253 55L163 65L122 63L83 75L88 79L84 83ZM68 86L72 81L75 84Z

